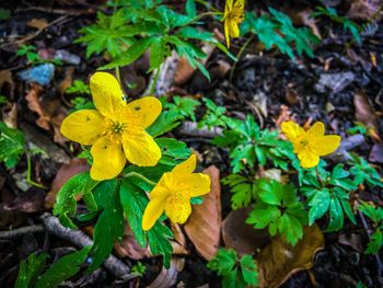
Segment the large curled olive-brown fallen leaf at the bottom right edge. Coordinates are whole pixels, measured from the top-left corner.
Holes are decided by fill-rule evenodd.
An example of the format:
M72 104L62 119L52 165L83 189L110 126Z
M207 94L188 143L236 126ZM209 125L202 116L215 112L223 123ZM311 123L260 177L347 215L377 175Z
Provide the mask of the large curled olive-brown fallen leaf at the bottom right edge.
M316 224L304 228L303 239L295 246L280 237L274 238L255 257L259 267L259 287L280 287L293 274L310 269L316 252L323 249L324 237Z

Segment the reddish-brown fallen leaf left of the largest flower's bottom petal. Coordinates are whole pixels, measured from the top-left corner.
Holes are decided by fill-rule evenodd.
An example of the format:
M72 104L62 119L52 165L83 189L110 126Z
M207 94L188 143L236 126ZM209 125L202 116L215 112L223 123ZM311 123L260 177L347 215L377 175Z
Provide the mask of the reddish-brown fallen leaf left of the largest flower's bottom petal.
M58 170L51 188L45 197L44 207L51 209L56 203L56 195L62 185L72 176L89 171L89 164L85 159L74 158L68 164L62 164Z

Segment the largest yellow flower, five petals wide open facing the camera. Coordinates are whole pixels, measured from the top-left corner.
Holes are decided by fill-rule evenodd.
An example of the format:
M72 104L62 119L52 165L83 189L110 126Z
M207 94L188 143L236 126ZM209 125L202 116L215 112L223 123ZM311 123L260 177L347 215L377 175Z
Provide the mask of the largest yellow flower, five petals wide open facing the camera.
M81 110L66 117L61 134L72 141L92 146L91 177L97 181L117 176L126 160L139 166L154 166L161 150L146 131L160 115L155 97L126 103L118 81L96 72L90 82L96 110Z

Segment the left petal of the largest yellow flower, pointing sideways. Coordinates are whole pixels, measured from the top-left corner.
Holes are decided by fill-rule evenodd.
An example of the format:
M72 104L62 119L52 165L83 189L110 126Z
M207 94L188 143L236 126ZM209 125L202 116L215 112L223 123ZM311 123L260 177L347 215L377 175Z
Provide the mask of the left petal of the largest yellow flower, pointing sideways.
M68 139L81 145L93 145L104 131L104 116L95 110L81 110L68 115L60 131Z

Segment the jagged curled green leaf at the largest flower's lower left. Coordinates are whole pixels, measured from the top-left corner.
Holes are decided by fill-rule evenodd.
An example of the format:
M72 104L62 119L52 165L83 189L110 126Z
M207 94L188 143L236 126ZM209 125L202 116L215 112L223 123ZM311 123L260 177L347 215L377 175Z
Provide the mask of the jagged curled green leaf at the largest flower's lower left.
M88 208L96 210L92 191L98 184L91 178L89 172L83 172L72 176L63 184L56 196L56 204L53 214L57 216L60 222L69 228L77 228L70 217L74 217L77 210L77 196L82 195Z

